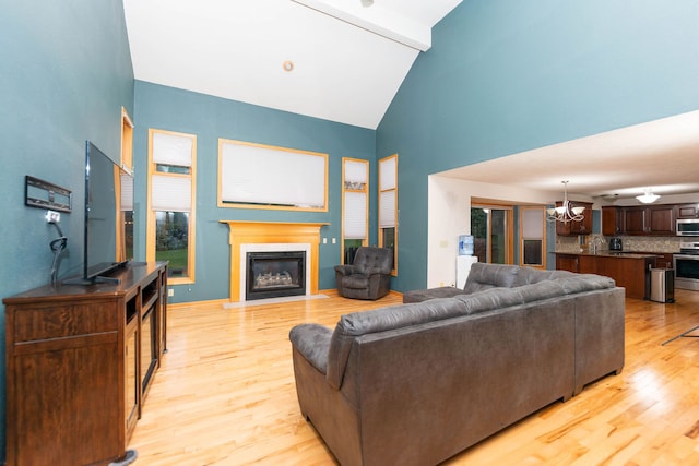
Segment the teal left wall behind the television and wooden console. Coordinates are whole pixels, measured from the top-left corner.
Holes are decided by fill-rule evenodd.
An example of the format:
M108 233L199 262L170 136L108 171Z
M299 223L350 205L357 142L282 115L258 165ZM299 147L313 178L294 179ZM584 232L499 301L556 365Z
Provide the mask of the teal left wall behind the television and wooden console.
M119 156L121 107L132 111L133 70L121 0L0 0L0 139L2 219L0 297L49 280L58 237L46 211L24 205L29 175L73 191L62 214L70 254L61 274L82 261L85 140ZM4 307L2 340L4 342ZM0 442L5 453L4 345L0 345Z

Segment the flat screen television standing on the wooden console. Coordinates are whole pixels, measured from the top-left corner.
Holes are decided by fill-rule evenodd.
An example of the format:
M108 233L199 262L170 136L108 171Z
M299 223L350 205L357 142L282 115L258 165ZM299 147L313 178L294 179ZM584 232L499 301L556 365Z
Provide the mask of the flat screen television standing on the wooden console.
M82 277L71 284L115 280L107 275L132 255L131 174L85 141L85 203Z

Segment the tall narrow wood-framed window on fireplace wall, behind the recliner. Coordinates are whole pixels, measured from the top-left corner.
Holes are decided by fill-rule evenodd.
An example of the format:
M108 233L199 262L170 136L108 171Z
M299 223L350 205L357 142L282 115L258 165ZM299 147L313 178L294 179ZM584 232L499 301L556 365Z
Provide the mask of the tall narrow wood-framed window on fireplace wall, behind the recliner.
M343 157L342 180L342 263L352 264L369 240L369 163Z

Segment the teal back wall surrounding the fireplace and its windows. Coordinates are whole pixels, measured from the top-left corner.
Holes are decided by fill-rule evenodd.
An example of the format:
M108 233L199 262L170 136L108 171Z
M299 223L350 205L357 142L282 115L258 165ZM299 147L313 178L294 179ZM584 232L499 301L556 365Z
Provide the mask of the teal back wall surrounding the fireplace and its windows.
M218 220L328 223L328 238L319 251L319 289L335 288L333 267L340 263L342 229L342 157L370 160L376 186L376 132L270 108L135 82L134 159L137 181L137 259L145 259L145 203L149 128L197 135L197 259L196 283L173 286L171 302L227 299L229 294L228 226ZM218 139L327 153L328 212L229 208L216 206ZM376 193L371 193L370 225L376 224ZM371 232L376 242L376 227ZM331 239L337 242L332 244Z

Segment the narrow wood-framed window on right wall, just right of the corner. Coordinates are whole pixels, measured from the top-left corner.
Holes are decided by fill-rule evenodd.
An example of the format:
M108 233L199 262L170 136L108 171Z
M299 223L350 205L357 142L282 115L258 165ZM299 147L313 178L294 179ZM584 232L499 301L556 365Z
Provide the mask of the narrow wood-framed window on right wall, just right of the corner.
M393 250L391 275L398 275L398 154L379 160L379 246Z

